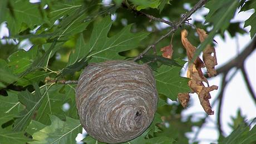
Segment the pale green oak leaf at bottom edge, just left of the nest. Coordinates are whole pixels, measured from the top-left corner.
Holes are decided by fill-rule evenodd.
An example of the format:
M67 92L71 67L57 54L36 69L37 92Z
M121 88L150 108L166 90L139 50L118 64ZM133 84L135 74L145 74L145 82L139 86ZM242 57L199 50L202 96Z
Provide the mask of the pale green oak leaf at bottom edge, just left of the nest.
M26 132L32 135L29 143L76 143L76 136L82 132L80 120L66 117L66 121L51 115L51 125L32 120Z

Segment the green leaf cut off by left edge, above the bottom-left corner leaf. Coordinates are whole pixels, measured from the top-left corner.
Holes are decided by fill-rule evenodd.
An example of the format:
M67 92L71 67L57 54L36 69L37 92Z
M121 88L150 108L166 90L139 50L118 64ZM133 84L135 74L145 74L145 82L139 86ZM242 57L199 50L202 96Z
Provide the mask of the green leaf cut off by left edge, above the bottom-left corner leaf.
M0 95L0 131L3 123L13 120L13 117L24 109L24 106L18 101L17 92L7 91L7 93L8 96Z

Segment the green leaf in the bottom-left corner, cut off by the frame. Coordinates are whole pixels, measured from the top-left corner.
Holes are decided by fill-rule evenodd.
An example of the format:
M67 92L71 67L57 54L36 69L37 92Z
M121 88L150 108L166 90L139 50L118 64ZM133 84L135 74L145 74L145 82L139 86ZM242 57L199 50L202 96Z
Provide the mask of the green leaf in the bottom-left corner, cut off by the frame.
M9 144L9 143L26 143L32 141L31 138L28 138L24 135L24 132L14 132L12 130L0 130L0 143Z

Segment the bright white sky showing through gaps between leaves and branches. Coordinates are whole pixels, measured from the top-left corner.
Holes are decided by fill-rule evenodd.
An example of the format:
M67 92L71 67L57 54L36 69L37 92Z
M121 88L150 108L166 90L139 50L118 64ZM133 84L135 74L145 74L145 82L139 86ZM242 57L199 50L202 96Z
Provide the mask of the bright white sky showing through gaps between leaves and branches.
M185 8L189 9L190 6L188 4L184 5ZM203 14L208 13L209 10L206 8L201 8L199 11L194 13L191 18L193 19L202 19ZM247 12L240 12L236 13L235 17L232 19L231 22L237 21L245 21L248 19L254 10L250 10ZM157 27L166 27L164 23L157 24ZM243 24L242 24L243 27ZM208 31L210 29L207 29ZM249 32L250 26L245 28L246 31ZM249 33L246 34L236 34L234 38L229 36L229 33L225 32L225 39L222 39L220 36L215 36L214 39L218 44L216 44L216 57L218 59L218 66L219 68L223 66L225 63L229 62L230 59L236 57L239 52L243 51L243 49L247 46L247 44L251 41ZM8 29L6 28L6 24L2 23L0 26L0 37L8 36ZM5 41L1 40L2 43ZM28 50L31 47L31 43L28 39L24 40L19 44L20 48L24 48ZM256 93L256 51L254 51L245 61L245 69L248 73L249 80L251 85L253 86L254 93ZM184 71L184 70L183 70ZM233 73L235 69L232 69ZM230 74L229 73L229 74ZM183 72L183 76L186 76L186 72ZM228 76L230 77L230 75ZM211 78L209 80L210 85L217 85L220 86L221 76L217 76L215 78ZM220 90L220 88L219 88ZM219 90L215 90L210 92L212 102L219 93ZM218 103L216 103L218 104ZM218 105L213 106L213 110L217 111ZM222 115L221 115L221 123L223 125L223 130L225 136L229 135L232 132L232 129L228 126L228 123L232 123L231 116L235 117L237 115L237 110L241 109L242 115L247 116L247 120L252 120L252 118L256 117L256 105L253 100L249 96L249 92L247 87L245 86L242 74L240 71L236 73L233 77L232 81L229 82L225 92L224 92L224 100L223 100L223 108L222 108ZM198 118L204 117L204 110L200 105L197 95L190 95L190 107L187 108L182 115L189 116L191 114L196 113L194 115L193 120L197 121ZM216 131L216 115L209 116L204 128L200 131L198 135L198 139L200 140L200 144L216 142L218 139L218 132ZM186 133L186 135L190 138L193 138L195 132L198 130L197 127L193 127L193 132ZM85 136L85 130L83 130L83 134L79 134L77 137L77 141L82 140ZM190 141L191 142L191 141Z

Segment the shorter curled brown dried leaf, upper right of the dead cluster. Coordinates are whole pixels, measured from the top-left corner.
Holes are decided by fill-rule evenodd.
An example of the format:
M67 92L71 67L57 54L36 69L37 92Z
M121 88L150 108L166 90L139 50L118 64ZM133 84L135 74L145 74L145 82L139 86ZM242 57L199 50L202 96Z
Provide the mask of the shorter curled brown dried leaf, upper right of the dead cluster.
M204 31L204 29L196 28L196 32L199 35L200 42L203 43L204 40L208 37L208 34ZM213 53L213 56L211 56ZM205 67L207 69L207 74L209 77L214 77L217 75L215 70L215 66L217 63L215 48L208 44L206 48L203 50L203 61L205 63Z

